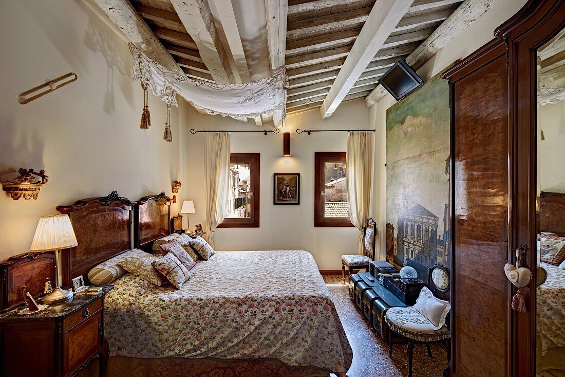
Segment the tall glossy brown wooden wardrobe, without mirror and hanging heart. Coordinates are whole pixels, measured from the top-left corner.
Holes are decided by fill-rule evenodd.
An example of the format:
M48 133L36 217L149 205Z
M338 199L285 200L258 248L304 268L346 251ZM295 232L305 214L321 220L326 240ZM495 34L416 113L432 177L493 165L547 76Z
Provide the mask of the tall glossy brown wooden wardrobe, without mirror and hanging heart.
M536 299L511 309L504 265L536 268L536 50L565 26L565 0L529 1L447 70L451 106L452 345L455 377L533 377ZM535 279L533 279L535 280Z

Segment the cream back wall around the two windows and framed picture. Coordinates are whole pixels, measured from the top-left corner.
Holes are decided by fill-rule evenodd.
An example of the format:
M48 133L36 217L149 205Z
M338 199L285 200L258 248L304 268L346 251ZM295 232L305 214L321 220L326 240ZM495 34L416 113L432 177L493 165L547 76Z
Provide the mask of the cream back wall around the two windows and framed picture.
M219 115L208 116L188 110L188 127L198 130L250 129L243 123ZM363 99L345 102L328 119L320 119L319 109L288 115L281 134L232 133L233 153L260 153L260 227L219 228L214 234L218 250L306 250L320 269L340 269L340 255L357 254L356 228L314 227L314 152L345 152L347 132L296 134L304 129L369 128L370 111ZM282 157L282 132L291 132L291 157ZM188 198L196 213L190 215L190 228L206 222L203 155L205 134L188 136ZM300 173L299 205L273 205L273 173ZM184 215L186 216L186 215Z

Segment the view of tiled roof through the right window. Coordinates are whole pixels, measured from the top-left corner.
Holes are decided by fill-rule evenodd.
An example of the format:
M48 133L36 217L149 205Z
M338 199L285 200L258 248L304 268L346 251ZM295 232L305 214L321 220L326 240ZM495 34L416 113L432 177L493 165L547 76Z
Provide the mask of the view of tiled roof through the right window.
M324 170L324 217L349 217L345 162L325 162Z

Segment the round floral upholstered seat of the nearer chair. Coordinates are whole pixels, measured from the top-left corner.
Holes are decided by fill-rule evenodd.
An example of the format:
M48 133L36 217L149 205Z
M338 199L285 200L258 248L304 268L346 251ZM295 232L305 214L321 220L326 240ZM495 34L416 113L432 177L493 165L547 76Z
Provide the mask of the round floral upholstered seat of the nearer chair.
M451 336L447 325L434 330L434 325L411 307L390 308L385 314L385 322L399 335L418 341L431 342Z

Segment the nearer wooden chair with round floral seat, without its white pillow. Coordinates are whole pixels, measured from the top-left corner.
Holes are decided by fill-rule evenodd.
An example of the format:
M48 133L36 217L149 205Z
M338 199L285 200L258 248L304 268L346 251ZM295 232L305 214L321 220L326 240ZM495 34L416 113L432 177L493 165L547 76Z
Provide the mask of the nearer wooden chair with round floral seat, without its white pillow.
M449 289L451 286L449 268L436 264L428 269L428 289L437 298L449 301ZM399 342L408 343L408 377L412 377L412 354L415 343L424 343L428 349L429 357L432 357L430 344L437 342L445 346L447 350L447 367L444 377L448 375L449 362L451 361L449 339L449 313L446 323L438 330L427 318L410 307L393 307L385 314L385 322L389 327L388 343L389 356L392 358L393 336L400 338Z

